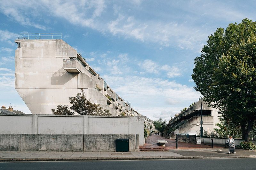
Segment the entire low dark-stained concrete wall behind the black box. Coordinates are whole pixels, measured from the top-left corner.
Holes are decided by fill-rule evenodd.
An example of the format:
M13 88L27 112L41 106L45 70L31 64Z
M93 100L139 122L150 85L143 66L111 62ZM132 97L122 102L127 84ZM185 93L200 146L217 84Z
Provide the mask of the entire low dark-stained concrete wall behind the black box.
M136 135L129 134L0 134L0 151L116 151L116 139L129 139L136 150Z

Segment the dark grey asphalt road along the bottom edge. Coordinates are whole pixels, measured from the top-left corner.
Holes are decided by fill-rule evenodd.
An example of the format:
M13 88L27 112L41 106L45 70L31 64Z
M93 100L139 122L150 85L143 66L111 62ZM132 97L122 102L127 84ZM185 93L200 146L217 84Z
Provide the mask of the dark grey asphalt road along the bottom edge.
M126 160L126 161L45 161L45 162L0 162L0 169L179 169L179 170L253 170L255 158L225 159L170 159L170 160Z

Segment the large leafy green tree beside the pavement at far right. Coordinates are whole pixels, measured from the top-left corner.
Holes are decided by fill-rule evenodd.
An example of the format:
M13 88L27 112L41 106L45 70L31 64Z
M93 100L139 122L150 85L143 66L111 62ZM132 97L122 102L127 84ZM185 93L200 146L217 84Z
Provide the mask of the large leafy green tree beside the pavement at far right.
M256 120L256 22L218 28L195 59L195 89L220 109L221 120L239 125L249 142Z

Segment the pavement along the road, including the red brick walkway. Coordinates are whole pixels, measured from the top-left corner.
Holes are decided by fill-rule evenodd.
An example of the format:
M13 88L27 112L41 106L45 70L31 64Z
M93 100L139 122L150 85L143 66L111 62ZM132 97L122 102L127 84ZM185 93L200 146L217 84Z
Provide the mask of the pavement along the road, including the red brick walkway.
M168 141L163 151L152 148L163 148L156 140ZM174 140L175 141L175 140ZM139 160L139 159L216 159L216 158L248 158L256 157L256 151L236 149L236 154L228 154L228 147L213 145L211 148L203 144L178 143L159 135L148 137L144 151L131 152L47 152L47 151L0 151L0 161L65 161L65 160ZM148 149L148 150L147 150Z

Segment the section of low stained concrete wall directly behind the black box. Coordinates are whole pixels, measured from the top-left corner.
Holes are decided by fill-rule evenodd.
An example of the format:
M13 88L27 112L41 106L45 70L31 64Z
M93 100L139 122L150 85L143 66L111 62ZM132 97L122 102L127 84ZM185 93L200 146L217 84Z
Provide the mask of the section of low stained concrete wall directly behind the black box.
M129 151L136 150L135 135L88 134L84 135L84 151L116 151L116 139L129 139Z

